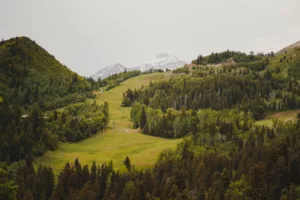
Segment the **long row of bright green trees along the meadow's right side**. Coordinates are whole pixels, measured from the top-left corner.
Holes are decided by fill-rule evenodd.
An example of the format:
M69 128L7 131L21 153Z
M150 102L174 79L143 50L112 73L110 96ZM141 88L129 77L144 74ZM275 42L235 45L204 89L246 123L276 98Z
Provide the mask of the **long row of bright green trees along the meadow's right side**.
M194 135L207 128L212 134L219 133L223 137L227 133L231 134L233 129L246 130L254 122L251 112L237 109L223 109L219 112L202 109L196 112L185 108L180 111L169 108L163 113L153 108L147 108L146 111L146 106L138 103L132 106L131 119L134 127L141 128L143 133L165 138L180 138L190 133Z

